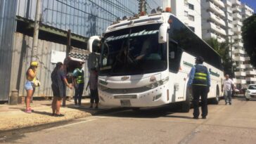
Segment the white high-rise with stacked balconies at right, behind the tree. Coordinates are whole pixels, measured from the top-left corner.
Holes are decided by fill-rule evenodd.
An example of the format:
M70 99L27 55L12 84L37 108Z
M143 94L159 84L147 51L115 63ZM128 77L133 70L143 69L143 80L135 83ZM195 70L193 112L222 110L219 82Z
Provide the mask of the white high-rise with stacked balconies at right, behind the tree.
M228 40L231 58L236 66L233 80L237 88L255 84L256 72L248 61L241 35L243 20L254 13L252 8L240 0L203 0L201 4L203 39L214 38L219 42Z

